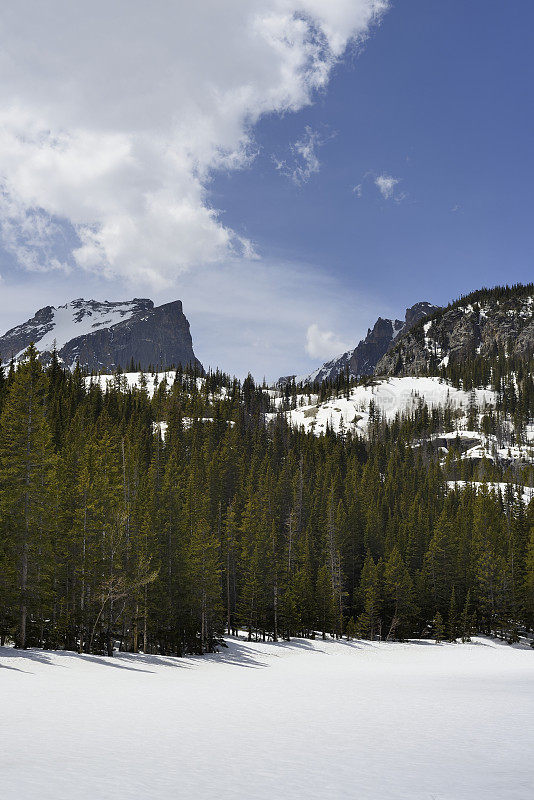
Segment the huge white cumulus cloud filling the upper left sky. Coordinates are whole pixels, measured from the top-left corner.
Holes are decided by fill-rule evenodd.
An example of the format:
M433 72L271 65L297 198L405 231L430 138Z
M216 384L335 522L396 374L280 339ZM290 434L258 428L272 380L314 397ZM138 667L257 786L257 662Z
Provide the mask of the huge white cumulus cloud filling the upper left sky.
M312 102L388 2L6 0L5 246L27 269L156 286L250 257L210 204L210 175L247 166L258 119ZM301 180L318 168L317 144L311 132L295 145Z

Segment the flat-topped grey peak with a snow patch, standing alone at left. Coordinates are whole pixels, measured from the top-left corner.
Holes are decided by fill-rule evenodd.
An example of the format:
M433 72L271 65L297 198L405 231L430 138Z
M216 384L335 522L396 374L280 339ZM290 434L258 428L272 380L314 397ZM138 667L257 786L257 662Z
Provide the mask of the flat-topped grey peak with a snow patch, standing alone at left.
M2 361L18 358L31 342L45 364L55 346L67 367L79 361L95 372L127 369L132 359L143 368L150 364L202 368L180 300L158 307L147 299L124 303L79 299L58 308L47 306L0 337Z

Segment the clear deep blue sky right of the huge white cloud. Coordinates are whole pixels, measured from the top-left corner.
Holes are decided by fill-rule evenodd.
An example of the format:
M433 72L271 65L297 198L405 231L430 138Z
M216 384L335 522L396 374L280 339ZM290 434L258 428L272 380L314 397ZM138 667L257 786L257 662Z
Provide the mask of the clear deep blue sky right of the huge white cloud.
M259 124L260 157L216 179L215 205L262 252L328 268L399 311L532 280L533 29L529 2L398 2L313 107ZM297 187L271 154L306 125L335 135ZM381 174L406 197L385 200Z

